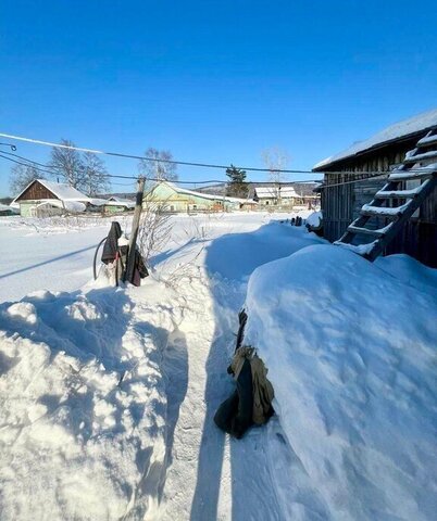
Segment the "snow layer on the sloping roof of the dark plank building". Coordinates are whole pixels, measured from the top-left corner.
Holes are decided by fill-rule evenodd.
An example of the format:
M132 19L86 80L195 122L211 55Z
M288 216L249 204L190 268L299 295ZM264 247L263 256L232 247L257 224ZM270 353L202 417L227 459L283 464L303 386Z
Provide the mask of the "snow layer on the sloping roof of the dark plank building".
M403 119L402 122L395 123L384 130L375 134L364 141L358 141L353 143L348 149L339 152L338 154L326 157L325 160L319 162L313 166L313 169L322 168L324 166L330 165L340 160L351 157L364 152L374 147L388 143L396 139L404 138L411 134L420 132L421 130L426 130L427 128L434 127L437 125L437 109L434 109L429 112L424 112L409 119Z

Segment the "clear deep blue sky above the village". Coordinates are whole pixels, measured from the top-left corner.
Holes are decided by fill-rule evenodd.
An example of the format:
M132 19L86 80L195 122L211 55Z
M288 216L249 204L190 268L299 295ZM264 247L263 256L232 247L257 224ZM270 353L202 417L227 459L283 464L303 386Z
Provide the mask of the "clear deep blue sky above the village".
M252 166L278 145L307 169L437 106L436 27L435 0L2 0L0 131Z

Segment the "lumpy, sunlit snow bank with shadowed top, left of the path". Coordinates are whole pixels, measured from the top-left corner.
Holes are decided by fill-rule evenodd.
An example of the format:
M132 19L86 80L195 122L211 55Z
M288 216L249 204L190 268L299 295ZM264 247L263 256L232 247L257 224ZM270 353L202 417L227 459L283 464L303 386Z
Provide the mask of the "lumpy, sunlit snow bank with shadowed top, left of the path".
M153 305L137 306L133 322L133 307L108 289L0 306L2 521L153 510L165 456L160 360L173 322Z

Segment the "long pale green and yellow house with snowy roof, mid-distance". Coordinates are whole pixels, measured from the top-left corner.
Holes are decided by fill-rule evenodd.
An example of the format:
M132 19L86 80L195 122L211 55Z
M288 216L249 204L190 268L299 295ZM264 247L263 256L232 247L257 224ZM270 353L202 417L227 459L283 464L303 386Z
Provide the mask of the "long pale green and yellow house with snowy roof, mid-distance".
M235 209L252 209L258 203L253 200L214 195L180 188L173 182L161 181L154 185L145 195L143 205L153 202L165 212L232 212Z

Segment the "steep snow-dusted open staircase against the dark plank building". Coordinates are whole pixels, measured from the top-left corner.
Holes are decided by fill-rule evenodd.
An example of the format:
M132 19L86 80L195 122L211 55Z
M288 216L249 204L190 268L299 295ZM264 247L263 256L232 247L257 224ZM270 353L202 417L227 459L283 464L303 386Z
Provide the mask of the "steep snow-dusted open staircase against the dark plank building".
M419 181L420 185L407 189L405 181ZM407 153L402 165L392 170L388 182L375 193L372 202L363 205L360 217L334 244L375 260L436 187L437 127ZM386 218L389 223L375 228L374 217Z

